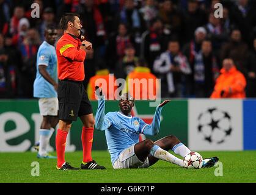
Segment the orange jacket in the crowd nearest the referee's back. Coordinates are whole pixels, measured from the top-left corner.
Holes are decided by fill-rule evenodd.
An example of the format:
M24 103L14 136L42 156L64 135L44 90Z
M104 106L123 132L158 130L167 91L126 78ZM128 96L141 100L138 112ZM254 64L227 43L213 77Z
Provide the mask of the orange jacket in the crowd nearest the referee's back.
M106 81L106 87L101 83L102 83L102 79L104 79L104 81ZM88 93L88 97L90 100L95 100L95 86L98 85L99 87L102 88L103 94L105 96L106 99L111 99L114 100L115 96L114 93L117 90L118 86L115 86L115 76L114 74L111 74L111 76L109 76L109 71L108 69L101 69L99 71L96 72L95 76L91 77L87 86L87 93ZM97 83L100 82L100 83ZM109 83L111 82L111 83ZM112 89L110 87L113 87Z

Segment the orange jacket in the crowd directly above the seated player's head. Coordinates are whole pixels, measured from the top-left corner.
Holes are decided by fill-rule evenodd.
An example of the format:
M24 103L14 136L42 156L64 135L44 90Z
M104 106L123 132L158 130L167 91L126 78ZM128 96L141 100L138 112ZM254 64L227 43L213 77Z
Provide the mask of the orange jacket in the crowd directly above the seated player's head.
M138 80L134 80L133 87L131 87L129 85L129 79ZM149 79L152 80L149 81ZM158 83L156 79L156 76L150 73L149 68L137 66L126 77L126 87L124 88L123 93L127 93L128 91L134 99L156 99L156 90L158 88Z

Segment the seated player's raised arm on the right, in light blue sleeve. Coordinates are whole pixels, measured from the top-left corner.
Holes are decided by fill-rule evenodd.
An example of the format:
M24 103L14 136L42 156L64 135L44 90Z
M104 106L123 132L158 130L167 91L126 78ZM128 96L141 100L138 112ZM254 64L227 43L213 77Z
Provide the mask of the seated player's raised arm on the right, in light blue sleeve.
M164 107L164 105L166 105L168 102L170 102L170 100L165 100L163 101L161 104L158 105L158 107L156 107L156 112L152 121L152 124L144 124L144 126L141 129L141 133L144 133L145 135L157 135L159 132L159 128L160 128L160 123L161 123L161 111Z

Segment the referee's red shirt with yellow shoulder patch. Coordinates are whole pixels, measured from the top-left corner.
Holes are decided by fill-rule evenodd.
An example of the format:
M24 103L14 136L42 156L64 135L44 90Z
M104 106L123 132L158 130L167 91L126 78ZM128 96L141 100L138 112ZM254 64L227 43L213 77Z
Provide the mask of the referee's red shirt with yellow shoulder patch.
M81 41L70 34L57 41L56 53L58 60L58 77L60 80L84 80L84 60L86 51L79 49Z

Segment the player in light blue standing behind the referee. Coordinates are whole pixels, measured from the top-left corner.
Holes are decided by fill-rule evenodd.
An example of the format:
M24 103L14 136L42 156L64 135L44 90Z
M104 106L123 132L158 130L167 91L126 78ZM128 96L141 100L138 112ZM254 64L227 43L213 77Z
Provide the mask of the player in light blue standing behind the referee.
M37 52L37 76L34 81L34 97L38 98L40 114L43 121L39 130L38 158L56 158L46 151L49 139L54 133L59 122L57 99L57 55L54 43L57 38L57 30L54 26L45 29L45 41ZM37 147L36 147L37 146Z

